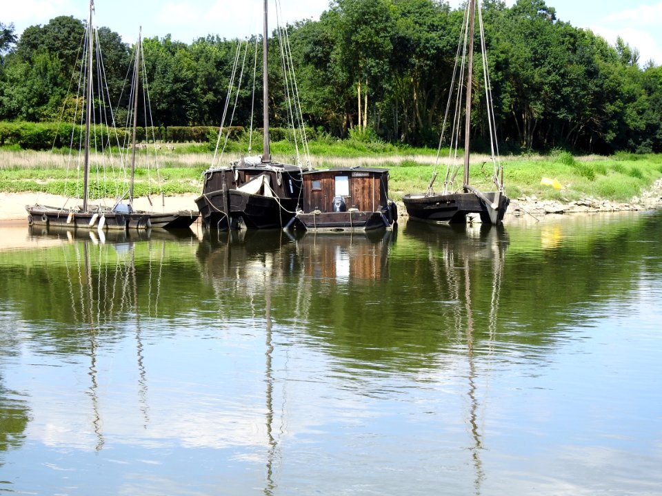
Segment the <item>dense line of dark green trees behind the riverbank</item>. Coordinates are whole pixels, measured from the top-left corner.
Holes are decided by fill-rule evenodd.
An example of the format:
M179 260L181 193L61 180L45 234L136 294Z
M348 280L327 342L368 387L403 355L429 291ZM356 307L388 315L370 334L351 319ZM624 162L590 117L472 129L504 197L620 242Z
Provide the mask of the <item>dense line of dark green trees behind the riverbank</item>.
M331 136L435 145L462 19L462 11L441 0L335 0L319 21L289 25L308 125ZM518 0L510 8L485 0L483 19L496 124L506 148L662 152L662 68L652 61L641 67L639 52L621 39L612 46L557 19L544 0ZM56 17L17 38L12 24L0 23L0 120L59 118L83 30L83 21ZM131 47L108 28L99 37L109 87L119 94ZM233 124L248 125L251 43L206 37L189 45L166 36L146 39L143 47L154 125L219 125L235 60L246 63ZM270 76L282 79L281 45L274 39L270 50ZM274 125L286 125L284 91L270 85ZM477 87L477 108L482 95Z

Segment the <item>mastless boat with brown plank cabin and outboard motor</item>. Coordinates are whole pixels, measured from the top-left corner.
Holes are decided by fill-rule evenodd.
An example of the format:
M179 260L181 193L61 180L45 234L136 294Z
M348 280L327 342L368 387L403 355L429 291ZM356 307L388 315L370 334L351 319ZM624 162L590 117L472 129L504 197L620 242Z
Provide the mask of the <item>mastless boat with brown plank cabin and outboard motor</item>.
M337 167L303 172L301 204L288 228L370 231L397 223L388 198L388 169Z

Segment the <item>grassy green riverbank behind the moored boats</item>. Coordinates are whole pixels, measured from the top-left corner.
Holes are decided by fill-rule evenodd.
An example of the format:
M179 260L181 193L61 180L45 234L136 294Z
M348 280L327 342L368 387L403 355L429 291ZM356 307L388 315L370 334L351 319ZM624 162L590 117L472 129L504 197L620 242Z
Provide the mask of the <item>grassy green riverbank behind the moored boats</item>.
M281 161L295 163L292 154L284 150L289 145L274 143L272 155ZM331 167L337 165L368 165L390 169L390 193L399 199L408 192L424 192L436 160L436 150L398 149L392 145L370 143L310 144L312 165ZM225 154L221 163L239 158L239 153ZM136 196L161 192L172 194L197 193L201 188L201 173L212 163L213 153L205 145L163 145L157 152L159 168L143 169L138 163ZM107 160L107 162L109 162ZM152 159L153 162L153 159ZM435 189L442 187L445 167L451 160L448 152L442 153L438 164L439 178ZM563 202L581 198L603 198L626 202L641 194L643 189L662 177L662 155L634 155L576 157L568 152L548 156L505 156L504 183L511 198L536 196L540 199ZM481 189L491 189L492 165L488 156L472 156L472 184ZM20 149L0 148L0 191L45 192L74 196L79 167L70 163L68 152L31 152ZM117 178L123 178L120 170L92 168L92 196L114 196ZM562 189L541 185L542 178L556 179ZM461 179L456 180L459 184Z

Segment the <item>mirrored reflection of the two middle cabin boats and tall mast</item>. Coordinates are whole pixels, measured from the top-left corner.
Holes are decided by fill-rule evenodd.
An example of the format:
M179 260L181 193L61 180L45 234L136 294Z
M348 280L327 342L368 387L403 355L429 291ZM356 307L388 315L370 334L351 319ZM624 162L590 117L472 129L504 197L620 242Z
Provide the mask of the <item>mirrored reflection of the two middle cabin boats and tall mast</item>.
M281 464L279 446L297 434L292 431L294 421L285 418L285 406L290 415L292 408L299 411L292 406L299 405L296 388L288 386L288 380L297 380L296 374L286 365L288 354L299 352L288 340L297 340L312 353L327 347L305 331L311 320L326 312L318 308L317 286L387 278L388 252L395 236L394 231L298 234L210 229L197 251L201 277L214 291L211 304L219 323L223 322L219 325L234 327L235 335L250 335L251 328L256 336L264 335L265 494L276 488L273 475ZM283 380L283 373L295 377Z

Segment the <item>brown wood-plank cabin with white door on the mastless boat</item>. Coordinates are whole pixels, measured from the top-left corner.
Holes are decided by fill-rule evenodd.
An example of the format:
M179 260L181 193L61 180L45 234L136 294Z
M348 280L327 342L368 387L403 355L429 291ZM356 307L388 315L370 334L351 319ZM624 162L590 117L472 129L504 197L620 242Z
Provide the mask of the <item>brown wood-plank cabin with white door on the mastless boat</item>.
M304 212L380 211L388 206L388 169L326 169L303 173Z

